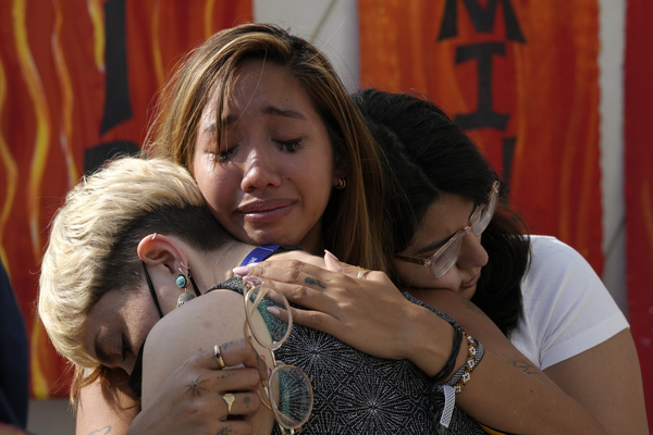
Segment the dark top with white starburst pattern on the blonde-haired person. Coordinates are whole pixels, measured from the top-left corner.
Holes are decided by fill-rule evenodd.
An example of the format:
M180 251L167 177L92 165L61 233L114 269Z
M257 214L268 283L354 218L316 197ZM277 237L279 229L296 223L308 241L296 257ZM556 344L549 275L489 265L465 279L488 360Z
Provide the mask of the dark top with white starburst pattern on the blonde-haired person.
M213 288L242 294L242 281L232 278ZM443 312L426 307L448 322ZM297 307L299 308L299 307ZM313 387L313 410L301 434L435 434L429 418L428 376L408 360L387 360L360 352L331 335L298 324L274 351L278 361L301 369ZM436 394L434 406L444 398ZM274 425L273 434L281 434ZM449 434L485 434L473 419L456 408Z

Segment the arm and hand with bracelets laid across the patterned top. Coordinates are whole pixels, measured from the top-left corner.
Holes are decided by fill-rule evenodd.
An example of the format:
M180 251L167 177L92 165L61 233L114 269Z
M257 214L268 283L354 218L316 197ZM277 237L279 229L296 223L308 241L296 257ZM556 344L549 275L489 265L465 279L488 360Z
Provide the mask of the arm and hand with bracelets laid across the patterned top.
M345 272L356 275L358 269ZM288 300L312 310L293 311L296 323L361 351L409 359L428 375L444 365L451 351L451 326L407 301L382 273L366 275L372 281L356 279L297 261L270 261L251 266L249 274L273 282ZM469 301L446 290L424 295L426 302L454 316L486 349L473 382L457 397L466 412L495 428L521 434L603 433L589 412L521 357L480 310L470 310ZM461 315L468 319L461 321ZM526 361L530 370L520 370L515 360Z

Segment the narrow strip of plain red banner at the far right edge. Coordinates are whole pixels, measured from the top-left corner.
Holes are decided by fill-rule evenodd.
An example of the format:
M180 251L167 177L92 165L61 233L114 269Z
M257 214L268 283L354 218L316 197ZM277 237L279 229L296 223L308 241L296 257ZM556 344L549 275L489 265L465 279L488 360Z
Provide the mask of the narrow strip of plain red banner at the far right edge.
M626 16L625 174L630 330L653 428L653 3L629 0Z

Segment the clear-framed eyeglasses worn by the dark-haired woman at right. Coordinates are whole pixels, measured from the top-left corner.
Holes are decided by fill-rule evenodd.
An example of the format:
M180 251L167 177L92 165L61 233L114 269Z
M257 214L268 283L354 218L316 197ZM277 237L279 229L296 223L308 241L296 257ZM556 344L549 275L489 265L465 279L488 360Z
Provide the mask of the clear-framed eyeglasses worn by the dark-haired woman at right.
M496 210L496 203L498 202L500 186L501 184L498 182L492 184L492 188L488 195L488 203L479 206L473 213L471 213L468 225L454 234L452 238L449 238L448 241L431 257L416 259L411 257L395 256L395 259L429 266L431 268L433 276L436 278L443 276L454 264L456 264L456 261L458 261L465 236L467 236L469 232L480 236L490 224L490 221L492 221L492 216L494 216L494 211Z

